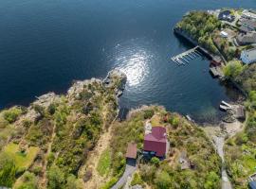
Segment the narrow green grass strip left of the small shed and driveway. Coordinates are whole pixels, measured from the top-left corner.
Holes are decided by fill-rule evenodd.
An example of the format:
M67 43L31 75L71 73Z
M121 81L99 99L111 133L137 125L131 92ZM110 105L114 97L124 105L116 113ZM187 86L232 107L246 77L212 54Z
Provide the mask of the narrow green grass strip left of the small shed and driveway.
M109 173L110 163L111 163L110 151L107 148L101 153L101 157L97 165L97 171L101 176L107 175Z

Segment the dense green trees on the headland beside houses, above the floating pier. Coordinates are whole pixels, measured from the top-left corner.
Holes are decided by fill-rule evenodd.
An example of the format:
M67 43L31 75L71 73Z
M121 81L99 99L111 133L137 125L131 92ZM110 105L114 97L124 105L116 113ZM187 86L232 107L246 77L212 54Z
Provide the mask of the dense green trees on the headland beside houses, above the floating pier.
M206 11L189 12L176 24L174 29L185 33L212 54L221 54L226 60L239 58L240 52L244 48L236 47L227 38L220 36L220 31L226 29L235 35L238 33L237 28L221 23L216 16Z

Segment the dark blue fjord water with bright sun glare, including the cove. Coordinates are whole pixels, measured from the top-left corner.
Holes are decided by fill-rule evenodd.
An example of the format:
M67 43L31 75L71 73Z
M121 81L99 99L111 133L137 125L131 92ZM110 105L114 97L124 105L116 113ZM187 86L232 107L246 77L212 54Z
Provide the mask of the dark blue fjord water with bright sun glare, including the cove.
M120 106L164 105L198 121L219 116L233 93L212 79L209 60L177 67L192 46L172 28L191 9L256 8L254 0L0 1L0 109L64 93L75 79L128 76Z

